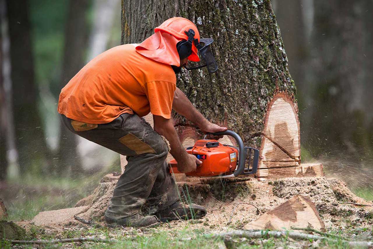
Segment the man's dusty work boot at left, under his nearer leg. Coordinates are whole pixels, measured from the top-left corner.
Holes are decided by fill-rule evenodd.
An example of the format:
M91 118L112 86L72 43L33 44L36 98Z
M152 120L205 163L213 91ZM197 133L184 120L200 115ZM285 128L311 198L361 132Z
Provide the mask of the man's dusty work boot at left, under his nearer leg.
M142 216L135 214L123 219L112 219L105 215L106 225L108 227L156 227L160 225L157 216Z

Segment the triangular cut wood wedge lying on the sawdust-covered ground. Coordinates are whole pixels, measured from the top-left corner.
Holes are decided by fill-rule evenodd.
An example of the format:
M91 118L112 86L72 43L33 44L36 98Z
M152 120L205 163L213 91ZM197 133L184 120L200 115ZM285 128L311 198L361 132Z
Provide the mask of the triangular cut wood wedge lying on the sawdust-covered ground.
M297 195L246 224L244 229L282 230L291 227L310 227L324 230L316 206L307 196Z

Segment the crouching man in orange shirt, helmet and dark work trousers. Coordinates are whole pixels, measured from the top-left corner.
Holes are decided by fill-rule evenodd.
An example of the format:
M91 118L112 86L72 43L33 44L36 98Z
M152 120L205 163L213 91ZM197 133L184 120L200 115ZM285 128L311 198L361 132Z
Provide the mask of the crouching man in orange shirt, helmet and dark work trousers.
M204 207L180 202L169 173L166 139L180 172L194 171L201 163L182 147L171 110L205 133L226 130L207 121L176 87L175 73L188 59L200 60L197 49L204 59L211 56L206 44L199 43L197 27L175 17L154 32L139 45L125 44L98 55L70 80L59 98L58 112L73 133L127 156L125 172L105 213L111 227L153 227L160 221L206 215ZM214 59L206 61L209 71L217 69L211 64ZM154 130L141 118L149 112ZM147 215L141 211L145 206Z

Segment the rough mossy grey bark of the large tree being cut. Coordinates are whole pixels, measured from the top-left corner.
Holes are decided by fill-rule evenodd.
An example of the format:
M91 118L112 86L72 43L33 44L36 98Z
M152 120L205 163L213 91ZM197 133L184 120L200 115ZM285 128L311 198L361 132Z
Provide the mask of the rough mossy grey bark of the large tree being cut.
M259 148L267 104L276 92L295 101L294 81L270 0L122 0L122 44L141 43L173 16L212 37L219 70L183 71L177 86L211 122L226 125ZM177 126L192 126L173 115Z

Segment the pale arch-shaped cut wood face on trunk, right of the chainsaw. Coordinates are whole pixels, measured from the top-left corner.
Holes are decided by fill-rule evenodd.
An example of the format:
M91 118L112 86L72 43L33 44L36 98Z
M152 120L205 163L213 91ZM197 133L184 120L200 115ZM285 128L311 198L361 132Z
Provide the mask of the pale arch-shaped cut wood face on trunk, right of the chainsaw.
M264 119L257 177L297 176L300 154L298 107L286 93L277 93L269 102Z

